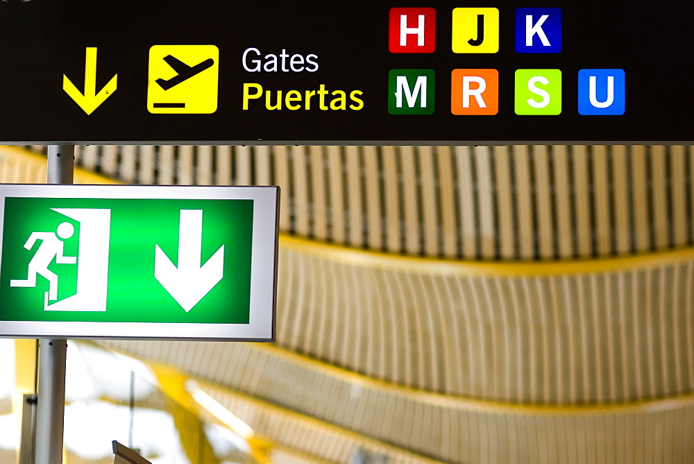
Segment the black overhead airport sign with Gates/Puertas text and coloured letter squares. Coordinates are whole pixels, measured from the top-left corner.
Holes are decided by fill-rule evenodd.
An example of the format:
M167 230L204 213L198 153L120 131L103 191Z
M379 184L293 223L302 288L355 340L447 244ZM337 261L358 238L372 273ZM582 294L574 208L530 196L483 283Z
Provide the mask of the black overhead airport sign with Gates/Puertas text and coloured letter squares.
M688 10L0 2L2 143L688 142Z

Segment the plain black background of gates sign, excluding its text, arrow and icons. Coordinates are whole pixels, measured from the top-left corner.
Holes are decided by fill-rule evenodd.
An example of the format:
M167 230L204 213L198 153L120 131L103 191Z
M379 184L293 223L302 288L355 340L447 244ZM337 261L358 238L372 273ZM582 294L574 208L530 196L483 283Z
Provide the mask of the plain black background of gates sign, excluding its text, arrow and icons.
M388 51L391 7L437 10L434 53ZM500 51L452 53L451 11L493 6L500 11ZM562 10L561 53L516 53L516 8ZM3 143L507 143L688 142L694 106L694 57L685 2L651 6L626 1L552 4L476 1L398 3L230 0L31 0L0 2L0 141ZM212 115L153 115L146 108L149 49L161 44L219 48L219 104ZM112 96L86 115L62 90L62 74L83 89L85 47L97 47L96 89L118 74ZM318 56L317 72L255 72L242 54ZM436 72L433 115L389 115L388 72ZM450 113L450 72L498 69L499 113ZM558 116L514 114L516 69L560 69ZM626 113L577 113L579 69L620 68ZM269 111L264 99L242 110L244 83L265 90L362 90L364 108ZM273 97L274 98L274 97ZM328 99L330 101L330 99ZM348 101L349 103L349 101Z

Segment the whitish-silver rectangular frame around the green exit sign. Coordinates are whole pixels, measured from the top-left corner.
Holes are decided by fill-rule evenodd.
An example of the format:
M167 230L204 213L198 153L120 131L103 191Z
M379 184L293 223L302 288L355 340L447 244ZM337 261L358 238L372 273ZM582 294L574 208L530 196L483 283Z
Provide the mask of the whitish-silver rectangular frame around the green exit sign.
M0 217L3 219L5 217L5 200L7 197L56 199L251 199L254 205L251 306L248 324L0 320L0 337L246 340L268 342L274 340L278 257L278 187L0 185ZM0 249L2 244L3 230L0 230Z

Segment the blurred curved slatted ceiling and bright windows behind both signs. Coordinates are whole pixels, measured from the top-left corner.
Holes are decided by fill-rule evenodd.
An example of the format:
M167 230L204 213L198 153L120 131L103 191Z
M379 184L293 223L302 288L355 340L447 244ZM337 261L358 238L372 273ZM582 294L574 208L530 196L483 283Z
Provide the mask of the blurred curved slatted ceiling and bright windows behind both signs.
M1 147L43 183L45 147ZM694 149L77 147L280 185L277 341L69 342L65 462L694 461ZM0 462L33 340L0 340ZM14 373L7 376L5 373ZM109 461L110 460L110 461Z

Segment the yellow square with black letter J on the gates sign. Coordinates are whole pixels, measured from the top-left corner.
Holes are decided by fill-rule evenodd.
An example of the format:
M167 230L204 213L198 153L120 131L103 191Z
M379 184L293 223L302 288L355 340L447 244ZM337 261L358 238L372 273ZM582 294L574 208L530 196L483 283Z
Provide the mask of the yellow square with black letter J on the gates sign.
M453 8L453 53L496 53L499 51L499 10L496 8Z

